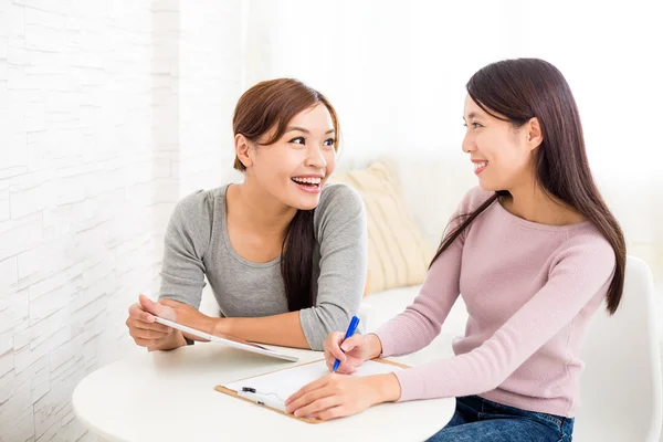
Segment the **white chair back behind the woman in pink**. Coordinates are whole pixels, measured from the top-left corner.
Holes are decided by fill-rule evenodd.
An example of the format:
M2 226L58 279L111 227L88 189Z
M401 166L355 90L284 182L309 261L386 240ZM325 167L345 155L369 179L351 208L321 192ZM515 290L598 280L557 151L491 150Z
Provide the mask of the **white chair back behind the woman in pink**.
M649 266L627 259L622 303L598 312L582 350L580 410L573 441L657 442L661 434L661 360Z

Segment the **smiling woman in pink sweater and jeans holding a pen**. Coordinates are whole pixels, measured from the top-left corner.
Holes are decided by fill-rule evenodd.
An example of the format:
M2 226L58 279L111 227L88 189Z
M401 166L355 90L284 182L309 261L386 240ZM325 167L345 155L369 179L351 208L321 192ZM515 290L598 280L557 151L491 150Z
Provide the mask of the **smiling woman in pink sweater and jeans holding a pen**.
M480 187L452 217L421 293L375 334L344 341L338 332L325 343L339 373L417 351L461 295L470 317L455 356L390 375L328 375L288 398L288 412L333 419L380 402L455 397L454 417L432 441L571 440L583 337L603 301L609 313L619 306L624 238L555 66L506 60L466 87L462 147Z

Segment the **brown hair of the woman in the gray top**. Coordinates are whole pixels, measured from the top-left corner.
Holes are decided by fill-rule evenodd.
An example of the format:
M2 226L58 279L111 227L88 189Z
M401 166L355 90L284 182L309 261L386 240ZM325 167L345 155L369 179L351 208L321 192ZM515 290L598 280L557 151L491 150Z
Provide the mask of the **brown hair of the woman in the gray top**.
M242 134L256 145L267 146L277 141L295 115L317 104L329 110L336 131L334 149L338 150L339 125L336 110L319 92L294 78L277 78L261 82L246 91L239 99L232 119L234 135ZM269 139L261 138L270 130ZM241 172L246 168L235 157L234 168ZM286 228L281 248L281 275L287 307L291 312L311 307L314 301L312 290L314 210L297 210Z

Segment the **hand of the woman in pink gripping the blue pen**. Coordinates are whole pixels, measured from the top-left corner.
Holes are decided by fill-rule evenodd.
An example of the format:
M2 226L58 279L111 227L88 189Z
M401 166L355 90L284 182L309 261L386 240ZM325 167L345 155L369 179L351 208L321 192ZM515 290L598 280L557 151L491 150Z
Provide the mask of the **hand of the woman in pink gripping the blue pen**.
M352 373L365 360L378 357L382 351L382 346L376 335L354 335L345 340L344 338L343 333L333 332L325 340L325 362L329 371L338 359L340 365L336 372Z

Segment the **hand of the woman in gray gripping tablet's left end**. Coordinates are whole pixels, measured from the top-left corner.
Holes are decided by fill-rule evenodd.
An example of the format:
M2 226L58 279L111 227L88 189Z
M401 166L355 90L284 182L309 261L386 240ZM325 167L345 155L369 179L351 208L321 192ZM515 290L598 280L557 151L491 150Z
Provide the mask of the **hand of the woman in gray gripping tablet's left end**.
M155 315L172 322L177 320L177 314L172 307L155 303L145 295L138 296L138 302L129 307L126 325L137 345L147 347L149 350L166 350L187 344L181 334L178 336L177 330L155 323Z

